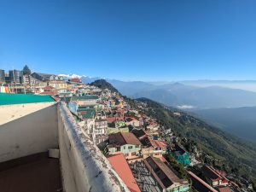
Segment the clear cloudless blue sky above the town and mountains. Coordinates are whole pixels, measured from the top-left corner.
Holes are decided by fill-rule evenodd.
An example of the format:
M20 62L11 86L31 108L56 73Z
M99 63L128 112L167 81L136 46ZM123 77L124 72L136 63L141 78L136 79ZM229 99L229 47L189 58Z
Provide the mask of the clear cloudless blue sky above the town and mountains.
M0 68L256 79L255 0L0 0Z

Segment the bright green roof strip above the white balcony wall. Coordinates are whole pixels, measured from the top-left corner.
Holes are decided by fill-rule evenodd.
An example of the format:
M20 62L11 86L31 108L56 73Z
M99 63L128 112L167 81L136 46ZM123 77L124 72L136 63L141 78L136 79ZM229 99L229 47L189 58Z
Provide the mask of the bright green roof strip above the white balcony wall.
M0 93L0 105L25 104L32 102L55 102L51 96Z

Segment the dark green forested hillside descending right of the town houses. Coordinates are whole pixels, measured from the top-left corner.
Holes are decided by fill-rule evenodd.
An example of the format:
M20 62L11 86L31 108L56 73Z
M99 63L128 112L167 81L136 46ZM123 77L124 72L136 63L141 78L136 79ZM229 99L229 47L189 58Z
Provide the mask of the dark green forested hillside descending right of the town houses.
M105 80L93 83L103 89L116 90L112 84ZM117 90L116 90L117 91ZM219 161L224 162L224 170L236 172L241 177L253 179L256 177L256 146L238 137L234 137L204 121L196 119L188 113L181 112L175 108L168 108L159 102L147 98L133 100L126 96L132 108L143 111L148 116L158 119L160 125L166 129L171 128L177 135L193 140L207 154L211 154ZM147 103L147 110L138 108L137 102ZM175 115L178 112L180 115ZM253 176L253 177L252 177Z

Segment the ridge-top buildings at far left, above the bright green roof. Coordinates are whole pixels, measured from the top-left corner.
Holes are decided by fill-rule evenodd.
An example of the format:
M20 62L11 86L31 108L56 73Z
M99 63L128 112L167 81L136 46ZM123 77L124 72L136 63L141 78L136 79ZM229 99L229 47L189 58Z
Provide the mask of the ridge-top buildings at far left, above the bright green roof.
M79 90L81 79L65 79L62 76L48 73L24 74L19 70L4 73L0 69L0 92L32 93L47 96L72 96Z

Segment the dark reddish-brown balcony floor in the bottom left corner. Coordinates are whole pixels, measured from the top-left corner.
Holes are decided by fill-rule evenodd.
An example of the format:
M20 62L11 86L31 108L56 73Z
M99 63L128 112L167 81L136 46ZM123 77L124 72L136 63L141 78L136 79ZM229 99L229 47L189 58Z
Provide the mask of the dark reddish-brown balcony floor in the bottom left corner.
M59 160L47 155L34 154L0 163L0 191L62 191Z

